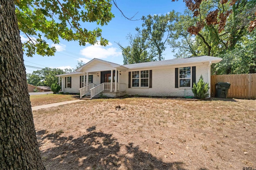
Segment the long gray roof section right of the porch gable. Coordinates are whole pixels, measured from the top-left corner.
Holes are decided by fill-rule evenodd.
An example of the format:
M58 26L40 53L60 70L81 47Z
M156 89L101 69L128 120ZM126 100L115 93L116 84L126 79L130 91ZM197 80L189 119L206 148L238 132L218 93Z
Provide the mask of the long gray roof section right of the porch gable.
M148 67L148 66L196 63L196 62L203 62L203 61L212 61L212 63L218 63L221 60L222 59L218 57L204 55L199 57L189 57L189 58L182 58L182 59L171 59L171 60L162 60L162 61L152 61L152 62L146 62L146 63L125 64L122 66L126 68L140 68L140 67Z

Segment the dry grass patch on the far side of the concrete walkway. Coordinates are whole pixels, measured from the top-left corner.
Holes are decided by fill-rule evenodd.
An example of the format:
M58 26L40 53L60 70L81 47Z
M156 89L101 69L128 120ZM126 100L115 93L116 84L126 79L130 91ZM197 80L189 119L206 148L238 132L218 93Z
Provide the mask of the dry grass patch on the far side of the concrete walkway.
M77 100L72 98L72 95L64 95L64 94L42 94L42 95L31 95L30 102L33 106L41 106L44 104L52 104L58 102L65 102L69 100Z

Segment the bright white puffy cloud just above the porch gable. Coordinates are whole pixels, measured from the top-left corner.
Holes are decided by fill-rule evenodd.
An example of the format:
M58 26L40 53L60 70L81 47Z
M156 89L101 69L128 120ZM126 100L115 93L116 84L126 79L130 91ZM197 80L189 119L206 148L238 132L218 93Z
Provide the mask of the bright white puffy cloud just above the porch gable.
M84 55L87 58L93 59L106 59L107 57L118 57L122 56L122 52L118 51L117 48L111 47L112 43L108 43L106 47L103 47L99 44L90 45L85 47L80 51L81 55Z

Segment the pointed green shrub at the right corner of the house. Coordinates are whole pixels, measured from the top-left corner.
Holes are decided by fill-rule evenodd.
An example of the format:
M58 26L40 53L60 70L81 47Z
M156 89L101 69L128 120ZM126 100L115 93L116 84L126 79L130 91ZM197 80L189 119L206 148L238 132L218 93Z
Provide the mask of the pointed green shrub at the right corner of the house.
M197 83L193 84L192 92L194 93L195 98L204 99L208 97L209 84L204 82L204 78L201 75Z

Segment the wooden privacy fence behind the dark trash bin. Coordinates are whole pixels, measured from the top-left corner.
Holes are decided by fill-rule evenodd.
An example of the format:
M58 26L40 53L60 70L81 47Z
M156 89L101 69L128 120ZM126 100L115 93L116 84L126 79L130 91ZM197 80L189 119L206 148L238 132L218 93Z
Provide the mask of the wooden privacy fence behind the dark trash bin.
M218 82L229 82L228 98L255 99L256 73L254 74L228 74L211 76L211 96L215 97Z

